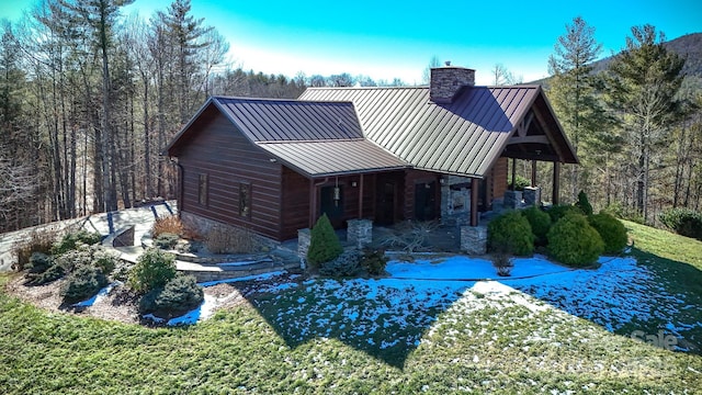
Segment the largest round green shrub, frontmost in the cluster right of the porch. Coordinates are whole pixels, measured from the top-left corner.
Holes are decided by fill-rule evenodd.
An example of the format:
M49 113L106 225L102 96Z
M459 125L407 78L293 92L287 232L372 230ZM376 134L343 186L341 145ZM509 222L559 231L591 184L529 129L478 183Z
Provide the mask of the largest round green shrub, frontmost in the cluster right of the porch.
M569 213L548 230L548 253L557 261L571 267L587 267L604 251L600 235L582 214Z

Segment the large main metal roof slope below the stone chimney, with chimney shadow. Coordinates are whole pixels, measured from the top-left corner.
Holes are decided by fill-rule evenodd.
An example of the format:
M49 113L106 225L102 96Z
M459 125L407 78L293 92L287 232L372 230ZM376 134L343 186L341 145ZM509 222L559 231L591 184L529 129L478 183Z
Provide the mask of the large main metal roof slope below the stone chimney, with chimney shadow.
M299 97L352 101L366 137L416 168L479 177L514 142L536 98L546 103L540 111L550 123L545 137L562 146L557 159L577 162L539 86L466 87L448 104L431 102L427 87L309 88Z

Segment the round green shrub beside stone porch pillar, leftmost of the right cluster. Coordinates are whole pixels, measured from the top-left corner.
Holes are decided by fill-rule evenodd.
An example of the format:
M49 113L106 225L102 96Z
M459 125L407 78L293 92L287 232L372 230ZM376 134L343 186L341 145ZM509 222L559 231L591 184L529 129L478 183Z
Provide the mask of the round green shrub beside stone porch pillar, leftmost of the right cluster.
M509 211L487 225L490 251L528 256L534 252L534 235L529 221L518 211Z

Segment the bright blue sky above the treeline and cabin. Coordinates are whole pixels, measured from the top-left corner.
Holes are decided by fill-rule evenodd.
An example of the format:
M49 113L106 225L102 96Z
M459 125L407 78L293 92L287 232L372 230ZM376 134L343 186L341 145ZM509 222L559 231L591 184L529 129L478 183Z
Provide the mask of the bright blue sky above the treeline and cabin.
M123 13L143 18L171 0L136 0ZM18 19L36 0L0 4ZM230 44L233 66L265 74L350 72L420 83L432 56L477 70L505 65L524 81L547 76L547 59L565 25L581 15L596 29L601 56L624 47L631 27L650 23L671 40L702 32L702 1L226 1L192 0Z

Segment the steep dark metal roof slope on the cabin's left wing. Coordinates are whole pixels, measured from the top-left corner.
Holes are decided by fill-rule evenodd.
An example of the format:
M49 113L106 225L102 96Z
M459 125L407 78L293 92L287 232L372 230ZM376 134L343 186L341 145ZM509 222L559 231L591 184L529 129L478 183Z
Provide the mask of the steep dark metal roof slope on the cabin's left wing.
M350 102L225 97L212 101L252 142L363 138Z

